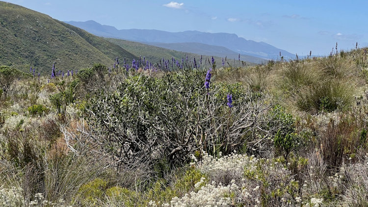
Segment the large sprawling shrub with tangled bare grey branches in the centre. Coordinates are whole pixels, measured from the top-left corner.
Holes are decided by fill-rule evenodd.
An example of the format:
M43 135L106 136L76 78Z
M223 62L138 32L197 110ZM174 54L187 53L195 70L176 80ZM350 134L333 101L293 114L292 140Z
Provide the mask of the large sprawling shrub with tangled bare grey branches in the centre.
M139 161L154 166L160 160L183 164L198 149L229 154L242 147L256 122L266 122L267 105L255 104L262 97L238 84L212 83L207 91L204 80L203 71L160 78L135 75L124 79L117 91L95 96L86 110L89 123L109 146L103 150L115 152L119 165ZM231 109L226 104L230 92Z

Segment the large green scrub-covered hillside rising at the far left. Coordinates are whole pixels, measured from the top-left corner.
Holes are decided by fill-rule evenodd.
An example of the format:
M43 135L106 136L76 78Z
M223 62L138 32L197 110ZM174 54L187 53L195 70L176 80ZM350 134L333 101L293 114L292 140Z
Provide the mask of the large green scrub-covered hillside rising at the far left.
M0 65L46 72L112 65L134 55L101 37L25 7L0 1Z

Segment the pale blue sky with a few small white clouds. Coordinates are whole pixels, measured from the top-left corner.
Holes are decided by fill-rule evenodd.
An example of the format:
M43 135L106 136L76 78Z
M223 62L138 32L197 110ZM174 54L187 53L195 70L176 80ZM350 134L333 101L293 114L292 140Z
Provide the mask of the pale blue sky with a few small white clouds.
M235 33L298 55L368 46L368 0L5 0L60 21Z

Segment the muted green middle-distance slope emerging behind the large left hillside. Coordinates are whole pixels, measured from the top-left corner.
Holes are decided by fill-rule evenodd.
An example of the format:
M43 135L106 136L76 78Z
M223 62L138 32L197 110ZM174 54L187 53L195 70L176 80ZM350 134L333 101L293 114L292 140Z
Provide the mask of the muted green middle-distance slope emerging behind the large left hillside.
M151 46L151 45L146 45L146 44L142 44L142 43L137 43L137 42L131 42L128 40L122 40L122 39L114 39L114 38L105 38L106 40L108 40L109 42L116 44L118 46L121 46L123 48L125 48L126 50L128 50L129 52L131 52L134 55L141 55L142 58L143 56L145 56L146 59L148 59L149 61L151 61L152 63L158 63L160 60L162 60L162 58L165 59L171 59L172 57L174 57L176 60L178 60L179 62L181 62L182 58L186 58L186 56L188 56L189 59L191 59L191 61L193 61L193 58L196 58L197 63L200 63L200 58L201 58L201 53L190 53L187 51L177 51L177 50L172 50L172 49L166 49L166 48L162 48L162 47L158 47L158 46ZM170 44L168 44L170 45ZM215 46L216 47L216 46ZM212 54L213 53L213 54ZM218 67L221 67L222 65L222 57L218 56L219 53L216 53L216 51L208 51L206 54L202 53L202 63L206 66L210 66L210 64L207 62L205 62L206 59L211 59L212 55L214 56L214 60L216 61L216 65ZM217 55L216 55L217 54ZM238 54L237 54L238 55ZM234 61L228 57L229 61L231 61L232 66L239 66L239 64L241 64L238 61L238 57L236 55L236 62L234 63ZM235 57L235 56L234 56ZM260 58L261 59L261 58ZM262 59L264 60L264 59ZM266 61L266 60L264 60ZM255 65L255 63L251 63L251 62L246 62L247 65ZM226 65L228 66L228 65Z

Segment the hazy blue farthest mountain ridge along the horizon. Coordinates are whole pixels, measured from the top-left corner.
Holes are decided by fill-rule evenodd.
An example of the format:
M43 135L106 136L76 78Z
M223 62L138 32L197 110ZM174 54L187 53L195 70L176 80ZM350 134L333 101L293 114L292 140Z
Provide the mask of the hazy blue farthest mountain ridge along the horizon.
M294 54L271 46L264 42L255 42L229 33L208 33L200 31L166 32L155 29L121 29L102 25L95 21L66 22L82 28L92 34L131 40L141 43L202 43L223 46L234 52L265 59L276 59L280 52L285 58L294 58ZM191 51L192 52L192 51Z

